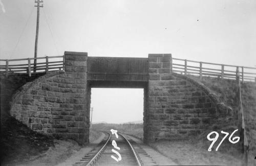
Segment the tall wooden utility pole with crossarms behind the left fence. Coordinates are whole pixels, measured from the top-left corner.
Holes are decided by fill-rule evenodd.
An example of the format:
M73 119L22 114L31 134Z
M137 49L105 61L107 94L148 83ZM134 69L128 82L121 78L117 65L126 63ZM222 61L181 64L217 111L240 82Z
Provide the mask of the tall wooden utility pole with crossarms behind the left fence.
M37 42L38 42L38 30L39 30L39 14L40 14L40 7L44 7L43 4L40 5L40 3L42 3L42 0L35 0L35 3L37 3L35 5L35 7L37 7L37 18L36 18L36 34L35 34L35 56L34 58L37 58ZM36 59L34 59L34 69L33 69L34 73L36 72Z

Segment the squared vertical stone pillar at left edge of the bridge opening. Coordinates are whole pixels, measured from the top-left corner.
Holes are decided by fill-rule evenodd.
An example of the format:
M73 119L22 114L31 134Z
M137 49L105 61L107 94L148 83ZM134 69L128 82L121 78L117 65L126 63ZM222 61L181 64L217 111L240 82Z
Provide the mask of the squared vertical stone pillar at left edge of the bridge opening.
M62 123L67 124L67 137L74 137L78 143L89 143L90 130L90 107L88 107L88 88L87 88L87 53L65 52L65 73L71 79L70 92L63 94L66 104L62 105L65 109L67 118L62 119ZM65 81L64 81L65 82ZM67 82L70 83L70 82ZM71 112L70 112L71 111ZM53 135L58 135L54 133ZM65 136L65 135L64 135Z

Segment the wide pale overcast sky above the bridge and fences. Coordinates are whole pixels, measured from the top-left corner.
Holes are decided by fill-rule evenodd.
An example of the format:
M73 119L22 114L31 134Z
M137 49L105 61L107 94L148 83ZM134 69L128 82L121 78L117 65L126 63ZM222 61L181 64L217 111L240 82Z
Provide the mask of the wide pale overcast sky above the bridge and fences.
M43 4L38 57L64 51L112 57L171 53L196 61L256 65L256 1L44 0ZM34 0L0 0L0 6L0 58L33 57ZM129 94L126 99L133 97ZM126 99L115 99L116 107Z

